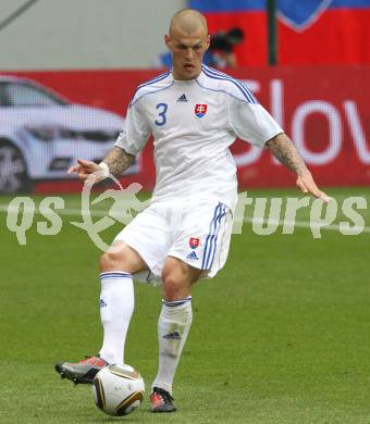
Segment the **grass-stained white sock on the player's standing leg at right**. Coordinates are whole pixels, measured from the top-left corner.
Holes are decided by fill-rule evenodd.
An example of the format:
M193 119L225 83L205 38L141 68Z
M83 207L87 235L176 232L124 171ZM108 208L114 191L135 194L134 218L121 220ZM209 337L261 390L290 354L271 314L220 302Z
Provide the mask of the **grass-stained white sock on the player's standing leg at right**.
M152 387L172 394L172 383L193 320L192 296L165 302L158 321L159 367Z

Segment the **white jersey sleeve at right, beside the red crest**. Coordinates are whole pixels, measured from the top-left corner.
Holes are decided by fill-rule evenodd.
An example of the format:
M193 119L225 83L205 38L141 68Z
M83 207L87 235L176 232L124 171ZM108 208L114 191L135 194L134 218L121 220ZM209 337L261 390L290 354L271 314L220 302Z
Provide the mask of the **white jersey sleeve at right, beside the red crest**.
M276 121L259 103L233 99L230 104L230 122L235 135L255 146L264 144L284 133Z

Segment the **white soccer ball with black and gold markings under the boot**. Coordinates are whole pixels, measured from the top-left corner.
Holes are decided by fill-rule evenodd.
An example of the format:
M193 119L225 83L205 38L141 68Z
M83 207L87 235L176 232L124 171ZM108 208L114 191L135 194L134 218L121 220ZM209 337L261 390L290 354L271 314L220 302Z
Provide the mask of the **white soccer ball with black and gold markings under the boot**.
M144 379L130 365L108 365L100 370L92 382L96 406L109 415L128 415L143 401Z

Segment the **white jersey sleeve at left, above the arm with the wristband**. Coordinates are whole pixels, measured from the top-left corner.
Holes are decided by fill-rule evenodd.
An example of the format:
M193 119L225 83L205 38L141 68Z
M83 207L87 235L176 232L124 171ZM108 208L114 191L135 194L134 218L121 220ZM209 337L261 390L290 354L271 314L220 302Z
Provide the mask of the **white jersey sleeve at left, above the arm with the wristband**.
M139 104L137 102L131 104L115 146L124 149L130 154L136 155L145 147L149 135L150 128Z

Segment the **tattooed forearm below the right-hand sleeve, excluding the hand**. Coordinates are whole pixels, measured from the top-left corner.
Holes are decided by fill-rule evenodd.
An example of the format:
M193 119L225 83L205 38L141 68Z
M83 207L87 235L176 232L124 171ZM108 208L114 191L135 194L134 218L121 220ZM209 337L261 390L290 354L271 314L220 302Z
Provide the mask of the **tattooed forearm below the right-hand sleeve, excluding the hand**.
M295 174L301 175L309 172L298 150L284 133L271 138L266 146L283 165Z

